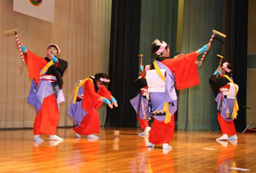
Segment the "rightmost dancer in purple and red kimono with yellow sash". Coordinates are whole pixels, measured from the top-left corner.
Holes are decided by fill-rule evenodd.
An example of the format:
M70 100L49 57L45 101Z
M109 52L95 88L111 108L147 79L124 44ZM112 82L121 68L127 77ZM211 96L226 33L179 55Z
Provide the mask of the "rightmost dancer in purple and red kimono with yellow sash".
M237 140L236 128L233 120L236 119L239 109L236 94L239 87L233 83L232 71L233 67L229 62L224 62L221 68L221 75L217 77L217 71L209 78L209 82L219 89L218 96L215 101L218 103L218 123L221 127L222 136L217 138L220 140ZM230 137L228 137L230 135Z

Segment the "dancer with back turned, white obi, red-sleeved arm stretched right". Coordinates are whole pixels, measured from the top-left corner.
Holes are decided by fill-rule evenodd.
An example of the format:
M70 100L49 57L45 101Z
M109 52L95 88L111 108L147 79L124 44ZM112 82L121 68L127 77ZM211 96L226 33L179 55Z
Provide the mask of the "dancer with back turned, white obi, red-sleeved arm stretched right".
M148 138L148 147L163 144L163 149L171 150L169 141L173 138L175 129L174 114L177 110L177 90L182 90L200 84L197 71L197 56L209 50L207 44L199 50L169 57L169 46L159 39L151 44L151 51L157 54L151 69L146 74L148 92L151 100L151 114L154 122Z

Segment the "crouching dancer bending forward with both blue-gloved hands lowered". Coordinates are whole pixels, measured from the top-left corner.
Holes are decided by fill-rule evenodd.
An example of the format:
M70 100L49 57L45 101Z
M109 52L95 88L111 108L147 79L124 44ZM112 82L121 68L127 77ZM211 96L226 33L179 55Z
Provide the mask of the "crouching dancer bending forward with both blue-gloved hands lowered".
M73 119L74 132L81 138L99 138L94 133L99 133L99 115L97 109L102 102L113 108L117 107L117 100L106 88L110 82L105 73L95 74L90 78L79 80L70 99L68 114Z

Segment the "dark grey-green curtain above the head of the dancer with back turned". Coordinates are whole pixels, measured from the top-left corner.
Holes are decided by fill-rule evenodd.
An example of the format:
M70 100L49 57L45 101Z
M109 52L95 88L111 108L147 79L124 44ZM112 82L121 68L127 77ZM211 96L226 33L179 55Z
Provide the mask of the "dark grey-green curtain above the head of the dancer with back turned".
M144 55L144 65L154 60L151 57L151 43L156 38L166 41L170 57L175 56L178 0L142 0L141 15L139 53Z

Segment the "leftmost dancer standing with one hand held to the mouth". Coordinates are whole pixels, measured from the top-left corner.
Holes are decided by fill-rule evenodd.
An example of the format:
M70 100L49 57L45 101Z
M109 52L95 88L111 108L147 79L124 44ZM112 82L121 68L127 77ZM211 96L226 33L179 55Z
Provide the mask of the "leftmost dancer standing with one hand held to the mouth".
M59 123L59 103L64 102L62 93L62 75L68 66L66 60L56 57L60 49L56 44L49 44L47 57L41 58L25 45L21 44L29 77L32 77L27 101L36 109L34 123L34 141L44 141L39 135L50 135L50 140L62 140L56 135Z

